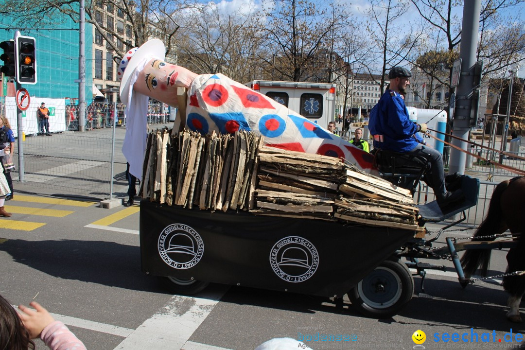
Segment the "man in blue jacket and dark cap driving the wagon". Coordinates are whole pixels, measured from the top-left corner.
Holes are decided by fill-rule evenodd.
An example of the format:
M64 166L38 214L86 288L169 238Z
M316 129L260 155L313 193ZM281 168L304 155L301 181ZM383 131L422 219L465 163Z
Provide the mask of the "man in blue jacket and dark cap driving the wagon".
M410 121L403 94L410 84L412 74L403 67L394 67L388 73L390 89L387 89L370 113L369 129L374 135L374 147L394 152L424 156L430 169L425 182L436 194L437 203L444 208L463 197L459 192L445 188L443 156L439 151L420 143L416 133L425 132L426 124Z

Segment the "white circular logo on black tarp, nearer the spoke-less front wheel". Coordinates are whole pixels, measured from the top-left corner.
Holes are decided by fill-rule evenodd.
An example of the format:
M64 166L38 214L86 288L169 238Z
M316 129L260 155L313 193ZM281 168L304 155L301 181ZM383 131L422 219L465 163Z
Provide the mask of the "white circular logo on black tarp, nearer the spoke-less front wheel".
M303 282L316 273L319 253L309 240L289 236L271 248L270 265L281 279L292 283Z

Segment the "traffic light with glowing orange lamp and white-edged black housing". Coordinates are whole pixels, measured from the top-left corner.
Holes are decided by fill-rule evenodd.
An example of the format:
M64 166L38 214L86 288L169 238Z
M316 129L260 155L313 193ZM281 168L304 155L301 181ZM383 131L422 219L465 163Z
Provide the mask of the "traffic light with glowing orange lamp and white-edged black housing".
M20 84L36 84L36 40L18 36L16 40L16 80Z

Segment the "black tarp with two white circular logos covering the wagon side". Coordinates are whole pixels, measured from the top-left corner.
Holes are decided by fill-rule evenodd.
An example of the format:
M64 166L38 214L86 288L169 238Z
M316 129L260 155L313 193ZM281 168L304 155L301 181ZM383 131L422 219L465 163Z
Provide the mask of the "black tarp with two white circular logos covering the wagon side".
M340 297L413 237L388 227L140 204L143 272L302 294Z

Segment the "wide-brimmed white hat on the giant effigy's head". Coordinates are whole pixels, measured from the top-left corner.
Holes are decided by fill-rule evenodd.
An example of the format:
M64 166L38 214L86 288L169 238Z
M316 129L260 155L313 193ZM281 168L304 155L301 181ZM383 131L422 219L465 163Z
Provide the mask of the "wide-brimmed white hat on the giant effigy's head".
M159 39L152 39L146 41L141 47L134 47L120 60L119 68L117 69L117 80L120 80L120 101L128 104L130 77L144 58L155 58L164 60L166 55L166 47Z

